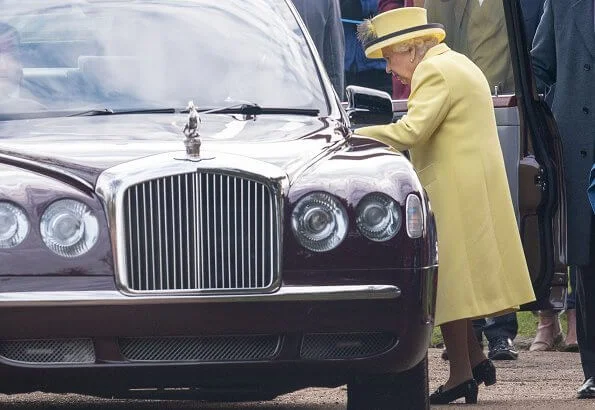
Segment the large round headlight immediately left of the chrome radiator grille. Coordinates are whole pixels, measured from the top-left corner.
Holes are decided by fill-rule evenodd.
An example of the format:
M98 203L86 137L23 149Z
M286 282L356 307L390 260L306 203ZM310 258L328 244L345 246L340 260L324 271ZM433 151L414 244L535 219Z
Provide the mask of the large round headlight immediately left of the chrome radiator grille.
M86 253L97 242L99 224L82 202L63 199L51 204L41 216L41 237L50 250L73 258Z

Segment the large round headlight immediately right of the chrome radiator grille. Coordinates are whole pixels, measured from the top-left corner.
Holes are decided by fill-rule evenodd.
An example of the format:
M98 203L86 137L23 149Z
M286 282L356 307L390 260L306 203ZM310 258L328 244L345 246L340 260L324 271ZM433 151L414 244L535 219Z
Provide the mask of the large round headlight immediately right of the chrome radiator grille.
M314 252L336 248L347 235L347 211L338 199L325 192L302 198L291 215L291 227L298 242Z

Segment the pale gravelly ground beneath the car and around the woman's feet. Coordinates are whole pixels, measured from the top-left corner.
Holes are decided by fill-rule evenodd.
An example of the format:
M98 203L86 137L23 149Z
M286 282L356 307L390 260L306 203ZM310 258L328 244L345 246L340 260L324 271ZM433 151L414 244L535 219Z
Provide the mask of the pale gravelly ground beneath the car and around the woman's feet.
M440 349L430 349L430 388L433 390L446 380L448 362L440 359ZM473 409L595 409L595 400L577 400L575 391L582 382L577 353L521 352L520 359L496 362L498 383L481 387L476 406L450 405L439 408ZM28 394L2 396L2 410L342 410L345 409L344 387L336 389L307 389L278 397L268 403L197 403L188 401L130 401L105 400L77 395Z

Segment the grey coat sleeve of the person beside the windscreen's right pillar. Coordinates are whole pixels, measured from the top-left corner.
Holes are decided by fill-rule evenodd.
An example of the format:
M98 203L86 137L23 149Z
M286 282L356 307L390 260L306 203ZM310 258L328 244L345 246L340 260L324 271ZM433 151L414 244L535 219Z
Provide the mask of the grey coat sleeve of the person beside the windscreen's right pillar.
M339 0L329 1L328 24L324 45L324 66L339 98L343 100L345 89L345 34L341 22Z

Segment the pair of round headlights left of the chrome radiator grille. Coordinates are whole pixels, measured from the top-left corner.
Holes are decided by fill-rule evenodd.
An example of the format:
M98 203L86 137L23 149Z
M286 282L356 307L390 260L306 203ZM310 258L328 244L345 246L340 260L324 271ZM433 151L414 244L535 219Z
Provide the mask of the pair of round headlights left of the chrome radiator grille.
M0 248L13 248L29 232L25 212L10 202L0 202ZM62 199L52 203L41 216L41 238L54 253L72 258L95 245L99 223L91 209L82 202Z

